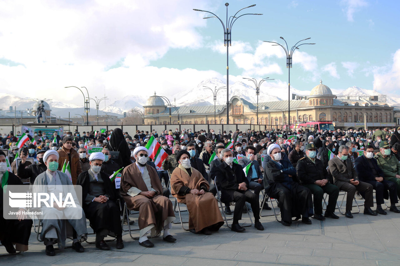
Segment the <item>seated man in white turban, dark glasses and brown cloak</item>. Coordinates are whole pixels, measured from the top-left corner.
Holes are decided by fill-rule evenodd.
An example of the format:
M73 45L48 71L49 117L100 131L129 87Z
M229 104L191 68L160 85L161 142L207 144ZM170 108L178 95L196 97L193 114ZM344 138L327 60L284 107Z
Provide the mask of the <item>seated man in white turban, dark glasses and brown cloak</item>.
M147 238L147 232L152 236L164 229L163 239L175 242L169 229L175 220L172 202L162 196L162 186L157 171L147 164L147 149L143 146L134 150L135 163L124 168L121 177L121 195L129 210L139 211L139 244L146 248L154 246Z

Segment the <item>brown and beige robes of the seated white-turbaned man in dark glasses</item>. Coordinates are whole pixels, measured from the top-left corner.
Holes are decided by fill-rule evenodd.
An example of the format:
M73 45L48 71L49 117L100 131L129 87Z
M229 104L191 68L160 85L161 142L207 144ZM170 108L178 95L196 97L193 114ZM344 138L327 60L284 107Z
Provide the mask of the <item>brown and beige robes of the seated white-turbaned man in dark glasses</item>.
M149 230L151 236L154 236L175 220L175 214L171 200L162 195L162 186L156 170L146 164L143 175L146 175L146 180L150 178L151 188L157 192L156 196L148 198L139 195L141 191L149 190L136 163L125 167L122 172L120 192L128 209L139 211L140 236Z

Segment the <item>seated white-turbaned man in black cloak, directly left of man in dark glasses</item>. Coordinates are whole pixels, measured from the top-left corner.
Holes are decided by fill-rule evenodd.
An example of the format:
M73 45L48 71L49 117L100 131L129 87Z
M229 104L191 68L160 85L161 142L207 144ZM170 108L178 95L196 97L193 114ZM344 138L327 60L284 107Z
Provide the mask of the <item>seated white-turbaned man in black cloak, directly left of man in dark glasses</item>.
M100 172L105 157L103 153L92 153L89 157L90 169L80 173L76 185L82 186L83 210L96 233L96 248L109 250L104 236L117 238L116 248L124 248L120 207L116 204L115 185L110 176Z

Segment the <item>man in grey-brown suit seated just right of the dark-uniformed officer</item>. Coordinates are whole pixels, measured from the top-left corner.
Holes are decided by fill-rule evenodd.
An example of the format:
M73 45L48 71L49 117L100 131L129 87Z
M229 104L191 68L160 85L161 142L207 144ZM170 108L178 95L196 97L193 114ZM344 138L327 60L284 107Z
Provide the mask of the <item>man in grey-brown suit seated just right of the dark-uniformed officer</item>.
M356 190L365 193L364 214L376 216L378 214L371 210L371 207L374 206L374 198L372 195L373 187L371 184L358 180L357 172L350 158L348 158L348 155L349 148L346 145L341 145L338 155L328 162L329 171L332 174L334 184L340 190L347 192L345 216L347 218L353 218L351 210Z

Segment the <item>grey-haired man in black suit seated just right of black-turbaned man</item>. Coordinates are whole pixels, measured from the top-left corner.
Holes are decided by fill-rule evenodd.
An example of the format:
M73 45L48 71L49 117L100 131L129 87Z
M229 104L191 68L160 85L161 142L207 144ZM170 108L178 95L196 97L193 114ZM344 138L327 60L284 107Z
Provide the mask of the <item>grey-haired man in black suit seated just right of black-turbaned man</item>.
M257 230L264 230L260 222L260 203L258 197L248 191L249 181L243 172L242 167L233 162L233 155L231 149L223 149L221 151L221 158L223 163L216 166L216 178L218 187L221 191L222 202L236 202L233 211L232 231L244 232L242 226L239 225L239 220L242 219L242 209L245 202L250 202L254 215L254 227Z

